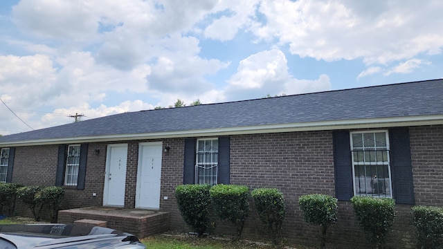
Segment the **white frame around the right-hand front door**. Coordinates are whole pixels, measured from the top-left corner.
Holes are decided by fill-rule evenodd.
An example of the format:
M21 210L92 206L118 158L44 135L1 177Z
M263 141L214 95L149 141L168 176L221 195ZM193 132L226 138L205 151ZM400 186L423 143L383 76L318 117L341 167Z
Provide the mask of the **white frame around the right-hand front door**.
M163 142L141 142L138 144L138 166L137 166L137 185L136 185L136 208L147 208L147 209L151 209L151 210L159 210L160 209L160 190L161 190L161 186L159 186L159 192L151 192L152 194L155 194L156 196L159 197L159 203L156 204L155 207L141 207L141 177L142 177L142 167L143 167L143 146L156 146L156 147L160 147L160 177L161 177L161 160L162 160L162 156L163 156ZM160 179L159 179L159 185L161 184ZM145 192L146 193L146 192Z

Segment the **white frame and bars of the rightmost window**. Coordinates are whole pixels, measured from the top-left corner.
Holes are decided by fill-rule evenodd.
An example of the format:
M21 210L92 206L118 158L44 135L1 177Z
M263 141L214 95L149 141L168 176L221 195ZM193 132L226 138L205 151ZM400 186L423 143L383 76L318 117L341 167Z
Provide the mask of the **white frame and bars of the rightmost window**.
M374 146L365 147L364 140L362 147L354 147L352 136L353 134L364 134L364 133L385 133L386 137L386 147L381 146L377 147L376 143L374 142ZM364 135L363 135L364 136ZM379 148L379 150L377 150ZM383 149L381 149L383 148ZM389 133L388 130L368 130L368 131L351 131L350 132L350 149L351 149L351 156L352 156L352 185L354 188L354 196L375 196L375 197L387 197L392 198L392 177L391 177L391 169L390 169L390 147L389 147ZM365 156L367 155L365 152L361 153L363 154L363 161L359 162L354 158L354 155L356 154L355 151L386 151L386 159L383 161L377 161L377 152L375 153L375 161L372 160L365 160ZM370 155L371 152L368 152ZM382 153L383 154L383 153ZM385 156L383 155L382 158ZM377 175L372 176L371 179L368 179L367 169L365 169L365 174L363 176L363 180L361 176L356 176L356 166L369 166L373 167L376 166L387 166L388 167L388 177L380 178ZM377 179L377 180L374 180ZM356 181L359 181L359 184L356 183ZM362 182L363 181L363 182ZM385 188L384 193L379 192L372 192L374 189L372 187L373 183L381 183L383 184L383 187ZM363 192L362 192L363 191Z

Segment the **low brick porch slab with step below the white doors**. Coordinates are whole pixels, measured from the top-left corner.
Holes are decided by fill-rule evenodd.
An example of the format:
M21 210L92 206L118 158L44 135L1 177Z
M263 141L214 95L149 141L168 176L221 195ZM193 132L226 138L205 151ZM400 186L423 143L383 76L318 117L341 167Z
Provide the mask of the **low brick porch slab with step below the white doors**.
M168 231L170 227L168 212L109 207L60 210L57 222L73 224L82 219L106 221L107 228L129 232L138 238Z

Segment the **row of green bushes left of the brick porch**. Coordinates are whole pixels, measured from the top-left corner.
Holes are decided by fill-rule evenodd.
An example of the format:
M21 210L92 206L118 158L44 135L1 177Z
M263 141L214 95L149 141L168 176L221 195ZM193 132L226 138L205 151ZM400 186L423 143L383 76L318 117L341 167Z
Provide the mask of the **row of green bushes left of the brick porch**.
M64 197L62 187L24 186L17 183L0 183L0 213L14 216L15 203L21 200L33 212L35 221L40 221L42 210L47 208L51 222L57 222L57 213ZM8 212L3 212L8 208Z

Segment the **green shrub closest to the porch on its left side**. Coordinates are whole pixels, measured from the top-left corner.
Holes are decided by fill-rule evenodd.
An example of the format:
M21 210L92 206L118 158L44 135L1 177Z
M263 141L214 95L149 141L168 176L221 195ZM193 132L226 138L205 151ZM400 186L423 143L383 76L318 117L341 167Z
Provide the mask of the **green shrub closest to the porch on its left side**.
M57 223L57 214L60 209L60 203L64 197L64 190L62 187L44 187L35 194L37 203L43 203L43 206L48 208L51 215L51 222Z

